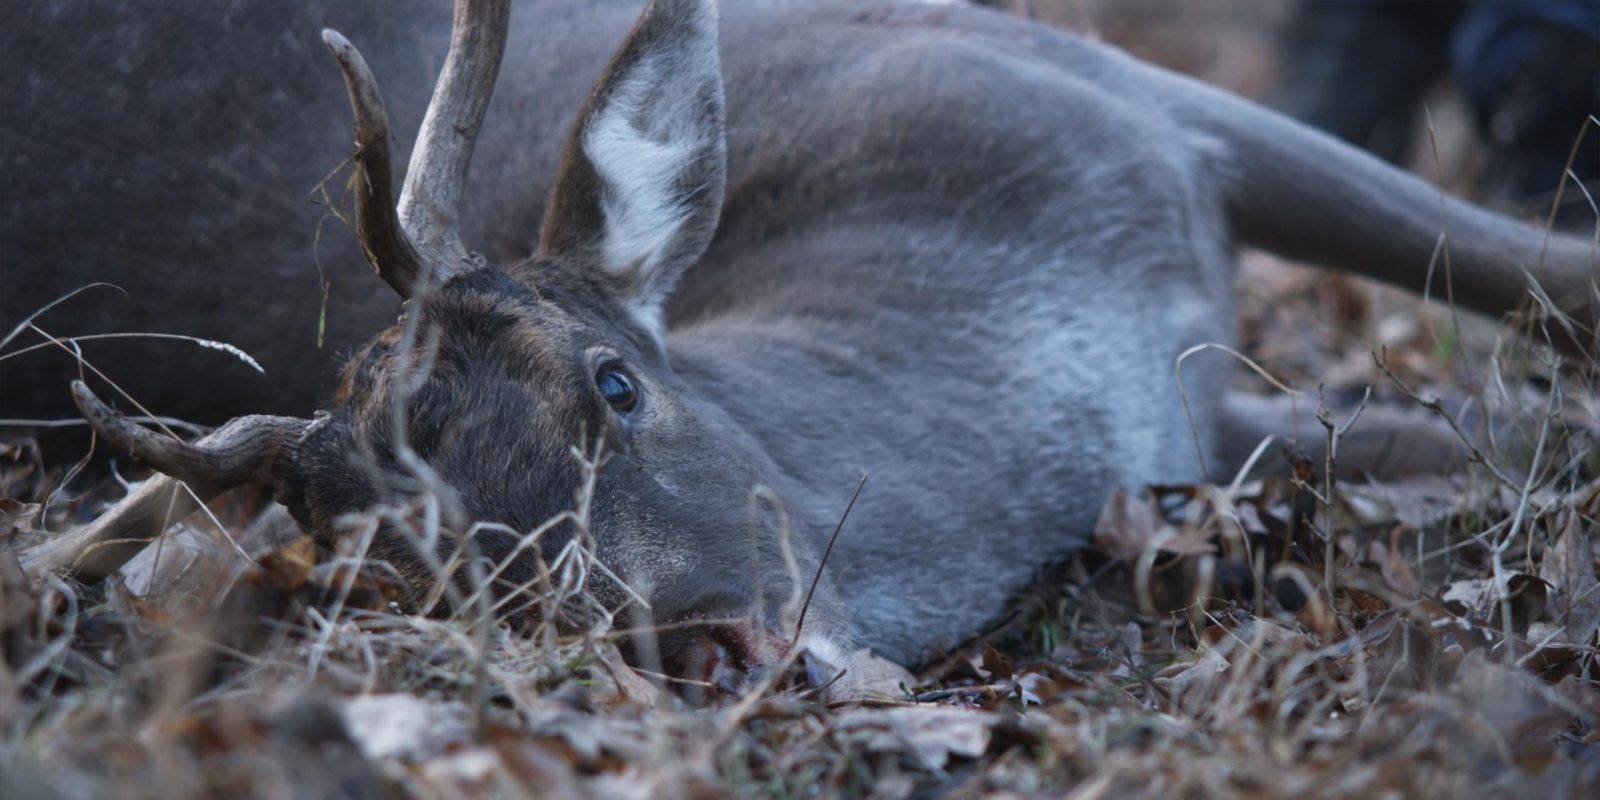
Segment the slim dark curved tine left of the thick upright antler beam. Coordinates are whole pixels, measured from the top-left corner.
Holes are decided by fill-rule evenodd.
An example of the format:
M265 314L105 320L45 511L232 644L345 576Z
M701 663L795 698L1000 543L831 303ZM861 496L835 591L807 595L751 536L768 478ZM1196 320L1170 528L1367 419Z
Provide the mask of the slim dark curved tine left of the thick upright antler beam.
M355 115L355 234L366 262L373 266L402 298L410 298L426 266L416 245L406 235L395 213L394 184L389 171L389 112L378 94L378 80L366 59L344 35L323 29L322 42L333 51L344 74Z

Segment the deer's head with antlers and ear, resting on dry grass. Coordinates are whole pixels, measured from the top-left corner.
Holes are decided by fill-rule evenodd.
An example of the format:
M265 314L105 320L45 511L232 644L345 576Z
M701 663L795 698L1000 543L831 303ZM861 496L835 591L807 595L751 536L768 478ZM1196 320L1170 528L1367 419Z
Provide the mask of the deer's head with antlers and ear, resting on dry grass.
M507 21L507 0L458 0L398 202L376 80L355 46L323 32L355 117L355 229L406 306L349 362L331 411L243 418L184 445L83 384L78 406L171 477L216 491L270 485L323 542L370 520L368 557L421 595L469 595L467 566L453 565L475 563L501 616L648 605L677 630L659 637L669 669L779 658L798 637L795 578L810 582L814 554L798 538L790 550L758 501L774 466L669 360L662 330L662 304L706 251L723 197L715 8L645 8L571 131L538 251L501 267L466 248L458 213ZM528 600L560 582L554 573L571 563L555 562L578 550L597 558L579 570L594 605ZM813 654L824 634L840 635L834 603L824 586L810 608ZM696 626L714 619L755 622Z

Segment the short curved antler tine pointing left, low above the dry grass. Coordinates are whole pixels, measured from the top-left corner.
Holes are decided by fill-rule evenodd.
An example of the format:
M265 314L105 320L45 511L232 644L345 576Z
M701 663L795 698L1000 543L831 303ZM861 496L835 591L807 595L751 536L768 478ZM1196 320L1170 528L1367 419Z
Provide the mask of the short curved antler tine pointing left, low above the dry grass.
M72 382L72 400L112 446L157 470L218 494L240 483L275 483L310 421L291 416L242 416L195 445L155 434L101 403L83 381ZM210 498L208 498L210 499Z

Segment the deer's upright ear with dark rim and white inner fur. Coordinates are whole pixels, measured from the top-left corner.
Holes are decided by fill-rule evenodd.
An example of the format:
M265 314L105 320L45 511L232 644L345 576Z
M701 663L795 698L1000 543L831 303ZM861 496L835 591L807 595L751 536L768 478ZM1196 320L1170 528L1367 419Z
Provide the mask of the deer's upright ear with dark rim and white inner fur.
M717 229L726 160L717 8L651 0L566 141L539 250L598 270L659 338Z

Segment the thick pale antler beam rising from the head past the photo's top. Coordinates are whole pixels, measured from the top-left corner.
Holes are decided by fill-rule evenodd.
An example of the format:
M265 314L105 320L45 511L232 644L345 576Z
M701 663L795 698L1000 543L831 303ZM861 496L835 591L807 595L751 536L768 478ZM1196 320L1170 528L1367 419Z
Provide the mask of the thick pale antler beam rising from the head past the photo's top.
M456 0L450 54L411 150L400 221L442 274L469 262L461 242L461 192L506 53L509 0Z

